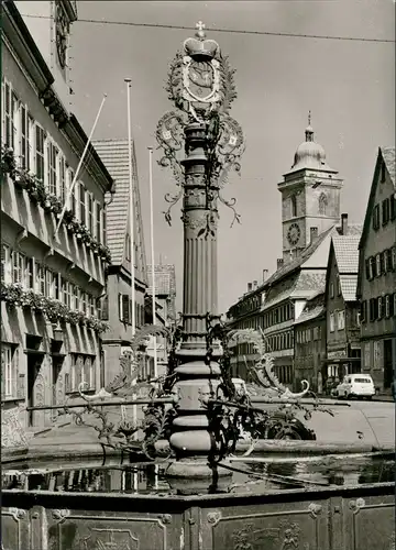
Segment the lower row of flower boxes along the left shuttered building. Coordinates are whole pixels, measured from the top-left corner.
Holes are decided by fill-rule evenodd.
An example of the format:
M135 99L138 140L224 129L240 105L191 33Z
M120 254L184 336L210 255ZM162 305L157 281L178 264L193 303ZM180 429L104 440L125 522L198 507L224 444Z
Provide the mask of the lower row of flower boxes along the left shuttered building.
M47 298L32 289L25 290L18 283L11 285L1 283L0 301L6 301L12 307L29 307L43 314L53 323L69 322L74 326L86 326L98 333L106 332L110 328L107 322L97 317L86 315L82 311L75 311L61 300Z

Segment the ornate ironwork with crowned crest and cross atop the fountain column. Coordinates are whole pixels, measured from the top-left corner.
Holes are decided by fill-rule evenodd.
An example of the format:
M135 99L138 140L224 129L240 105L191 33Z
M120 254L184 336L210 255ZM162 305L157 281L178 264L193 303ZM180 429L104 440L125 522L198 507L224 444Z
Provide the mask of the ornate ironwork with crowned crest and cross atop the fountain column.
M200 21L196 26L196 37L184 42L183 52L177 53L169 67L166 90L175 109L162 117L156 129L158 148L164 153L158 164L172 168L176 185L180 187L175 195L165 196L170 206L164 213L170 224L170 209L182 198L186 183L182 156L188 154L185 130L195 123L204 125L206 133L208 163L205 185L209 198L208 208L215 210L213 205L219 199L233 210L232 226L234 221L240 222L233 208L235 199L224 199L220 189L228 182L231 169L240 172L239 160L244 151L242 129L228 114L231 102L237 97L234 69L221 54L218 43L206 38L204 23Z

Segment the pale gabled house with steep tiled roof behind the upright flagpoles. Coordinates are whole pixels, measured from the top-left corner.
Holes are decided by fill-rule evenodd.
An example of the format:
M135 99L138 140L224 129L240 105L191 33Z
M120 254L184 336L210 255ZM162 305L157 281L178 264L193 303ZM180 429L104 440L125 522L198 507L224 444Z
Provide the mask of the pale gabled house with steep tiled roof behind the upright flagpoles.
M111 251L111 265L108 268L107 293L102 302L102 319L109 322L110 330L103 336L105 385L120 372L120 358L130 349L132 339L132 307L134 307L135 328L146 322L145 293L147 271L143 238L143 222L138 179L138 165L134 146L132 150L133 200L134 200L134 290L132 304L131 276L131 233L130 233L130 179L129 152L127 140L96 141L103 164L116 180L116 195L107 207L106 233Z

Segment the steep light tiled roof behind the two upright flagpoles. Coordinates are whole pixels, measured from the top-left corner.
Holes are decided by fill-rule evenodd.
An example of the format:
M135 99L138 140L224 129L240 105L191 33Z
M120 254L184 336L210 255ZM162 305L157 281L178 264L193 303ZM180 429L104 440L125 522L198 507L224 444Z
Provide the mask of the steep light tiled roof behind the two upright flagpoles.
M107 207L107 244L111 252L114 265L124 260L125 238L129 233L129 154L127 140L101 140L94 142L100 158L116 180L116 194L112 202ZM138 179L138 165L132 145L133 196L134 196L134 242L138 245L138 271L145 278L145 249L143 224Z

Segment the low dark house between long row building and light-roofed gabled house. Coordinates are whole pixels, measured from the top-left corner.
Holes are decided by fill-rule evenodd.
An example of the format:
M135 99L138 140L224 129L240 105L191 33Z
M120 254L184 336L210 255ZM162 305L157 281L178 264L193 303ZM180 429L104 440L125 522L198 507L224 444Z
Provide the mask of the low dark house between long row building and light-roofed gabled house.
M324 393L323 365L326 362L324 293L308 299L295 321L294 375L297 387L302 380L317 394Z

